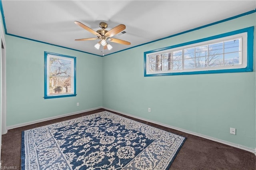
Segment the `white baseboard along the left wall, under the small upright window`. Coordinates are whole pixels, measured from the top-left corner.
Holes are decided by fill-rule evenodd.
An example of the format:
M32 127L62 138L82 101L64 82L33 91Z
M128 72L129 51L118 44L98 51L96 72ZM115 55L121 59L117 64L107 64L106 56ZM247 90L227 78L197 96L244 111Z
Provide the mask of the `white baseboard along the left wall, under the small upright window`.
M9 129L12 129L12 128L24 127L24 126L32 125L32 124L35 124L35 123L40 123L40 122L44 122L44 121L50 121L52 119L58 119L58 118L66 117L66 116L76 115L76 114L79 114L79 113L84 113L84 112L88 112L88 111L94 111L94 110L97 110L97 109L102 109L102 107L86 109L86 110L83 110L83 111L77 111L77 112L68 113L68 114L65 114L65 115L58 115L58 116L54 116L54 117L48 117L48 118L45 118L45 119L39 119L39 120L36 120L36 121L27 122L27 123L20 123L18 125L8 126L6 128L7 128L7 130L9 130Z

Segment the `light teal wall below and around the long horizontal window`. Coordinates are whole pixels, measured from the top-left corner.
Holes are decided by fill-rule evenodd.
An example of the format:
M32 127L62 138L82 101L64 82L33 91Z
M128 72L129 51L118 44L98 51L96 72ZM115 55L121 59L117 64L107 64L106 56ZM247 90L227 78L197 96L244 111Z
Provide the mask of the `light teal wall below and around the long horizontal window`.
M256 26L255 18L250 14L103 57L103 106L256 148L255 71L144 77L144 51Z

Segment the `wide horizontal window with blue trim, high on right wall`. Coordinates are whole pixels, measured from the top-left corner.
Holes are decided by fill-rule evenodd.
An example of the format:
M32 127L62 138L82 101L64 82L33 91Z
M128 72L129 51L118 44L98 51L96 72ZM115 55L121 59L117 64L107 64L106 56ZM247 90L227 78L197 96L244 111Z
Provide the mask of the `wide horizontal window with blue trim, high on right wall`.
M144 52L144 76L252 71L253 31L250 27Z

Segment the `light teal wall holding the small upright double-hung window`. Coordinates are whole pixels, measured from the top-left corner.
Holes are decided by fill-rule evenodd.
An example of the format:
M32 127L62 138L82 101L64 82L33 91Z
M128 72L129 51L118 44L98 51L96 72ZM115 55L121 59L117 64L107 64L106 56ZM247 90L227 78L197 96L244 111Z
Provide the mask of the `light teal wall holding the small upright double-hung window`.
M44 51L76 57L76 97L43 98ZM8 35L6 55L7 127L102 106L102 57Z

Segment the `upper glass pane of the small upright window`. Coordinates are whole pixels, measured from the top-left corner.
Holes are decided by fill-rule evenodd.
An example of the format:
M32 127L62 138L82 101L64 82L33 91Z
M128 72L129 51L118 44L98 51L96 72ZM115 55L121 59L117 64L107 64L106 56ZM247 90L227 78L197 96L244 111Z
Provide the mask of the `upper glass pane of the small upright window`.
M72 61L50 57L50 75L72 76Z

